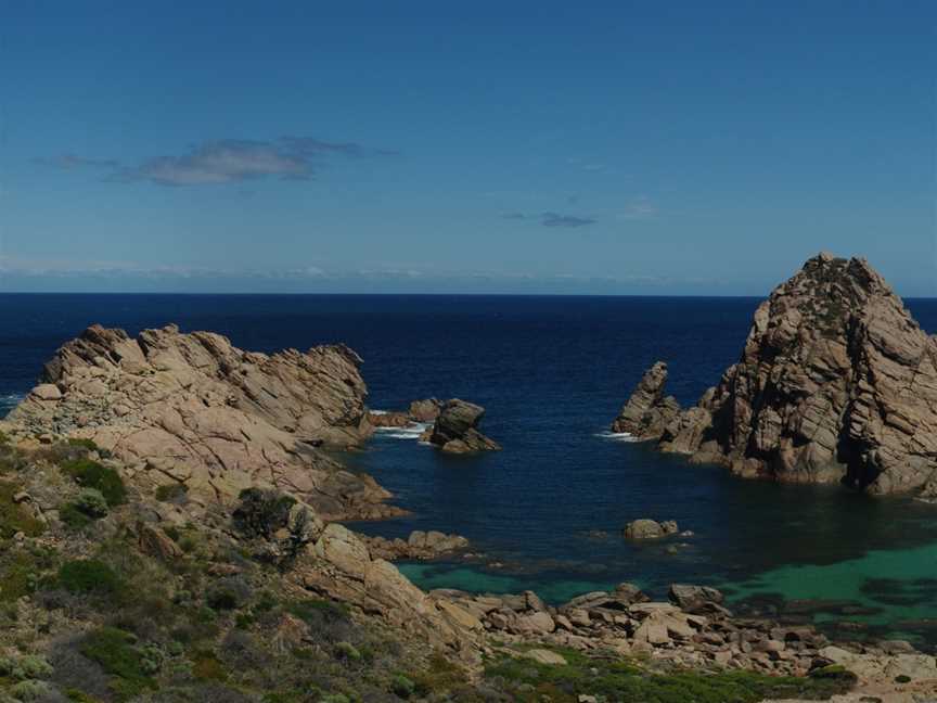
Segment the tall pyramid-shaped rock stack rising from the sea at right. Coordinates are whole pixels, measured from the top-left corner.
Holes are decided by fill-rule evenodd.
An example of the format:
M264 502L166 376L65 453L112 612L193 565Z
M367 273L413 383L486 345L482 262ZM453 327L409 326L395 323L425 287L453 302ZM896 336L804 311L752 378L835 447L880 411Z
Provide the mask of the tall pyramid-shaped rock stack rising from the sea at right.
M655 434L740 475L934 496L937 343L864 259L820 254L758 307L719 384Z

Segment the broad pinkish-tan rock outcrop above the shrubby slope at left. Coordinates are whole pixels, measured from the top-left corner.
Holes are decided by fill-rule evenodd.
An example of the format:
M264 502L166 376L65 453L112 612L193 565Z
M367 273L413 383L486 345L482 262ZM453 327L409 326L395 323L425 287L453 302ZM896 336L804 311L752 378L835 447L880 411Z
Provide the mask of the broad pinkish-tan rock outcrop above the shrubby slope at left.
M266 355L175 325L136 338L94 325L59 349L7 427L90 438L143 487L230 501L266 485L328 519L387 516L399 512L387 491L317 448L372 432L360 363L344 345Z

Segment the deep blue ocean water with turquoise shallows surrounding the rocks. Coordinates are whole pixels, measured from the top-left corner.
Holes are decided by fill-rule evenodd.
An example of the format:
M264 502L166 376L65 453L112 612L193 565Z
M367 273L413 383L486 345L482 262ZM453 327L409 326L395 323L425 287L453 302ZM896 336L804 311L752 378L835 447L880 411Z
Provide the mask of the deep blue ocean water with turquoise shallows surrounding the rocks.
M736 360L757 304L0 295L0 405L26 393L55 348L92 322L131 333L176 322L262 352L345 342L364 359L372 408L406 408L427 396L470 399L487 408L483 429L504 447L447 457L382 434L364 451L344 457L411 511L356 528L385 536L457 532L484 552L471 562L405 564L421 585L534 588L560 601L621 580L660 596L672 581L711 583L736 598L776 593L858 602L871 609L862 616L871 631L937 641L937 507L733 478L602 436L657 359L670 366L670 392L694 402ZM922 327L937 330L937 301L908 306ZM677 520L694 536L622 540L622 525L644 516Z

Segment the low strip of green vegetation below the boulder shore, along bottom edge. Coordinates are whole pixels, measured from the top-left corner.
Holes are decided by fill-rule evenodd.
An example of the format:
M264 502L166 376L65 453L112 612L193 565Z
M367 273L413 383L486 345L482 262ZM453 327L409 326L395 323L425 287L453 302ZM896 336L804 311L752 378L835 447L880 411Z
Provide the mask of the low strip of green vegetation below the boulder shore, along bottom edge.
M825 700L849 690L855 676L836 675L795 678L753 672L707 674L676 670L651 673L628 662L589 659L563 650L567 664L549 666L511 656L489 662L486 677L500 679L506 691L523 703L575 703L582 694L605 696L624 703L757 703L766 698Z

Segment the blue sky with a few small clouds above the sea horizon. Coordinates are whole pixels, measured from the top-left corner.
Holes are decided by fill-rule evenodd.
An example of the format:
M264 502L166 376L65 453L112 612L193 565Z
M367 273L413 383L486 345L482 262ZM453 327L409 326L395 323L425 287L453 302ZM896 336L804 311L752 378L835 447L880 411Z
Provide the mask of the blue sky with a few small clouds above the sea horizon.
M937 295L934 2L182 4L0 0L0 290Z

